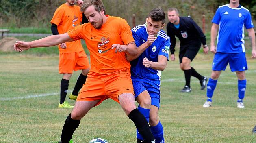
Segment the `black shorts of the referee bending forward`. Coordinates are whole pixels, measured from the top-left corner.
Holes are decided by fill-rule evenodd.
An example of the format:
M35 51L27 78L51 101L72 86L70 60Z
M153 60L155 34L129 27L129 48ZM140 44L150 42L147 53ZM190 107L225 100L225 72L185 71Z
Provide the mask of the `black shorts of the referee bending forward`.
M187 57L191 61L193 61L193 59L195 58L196 54L198 53L200 47L201 47L201 42L193 43L188 46L181 46L180 53L179 53L180 63L182 63L183 57Z

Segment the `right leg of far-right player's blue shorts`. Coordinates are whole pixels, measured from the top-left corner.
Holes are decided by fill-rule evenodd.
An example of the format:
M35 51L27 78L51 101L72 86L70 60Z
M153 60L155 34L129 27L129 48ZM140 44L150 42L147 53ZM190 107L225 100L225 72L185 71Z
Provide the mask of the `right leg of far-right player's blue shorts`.
M245 53L231 53L229 66L232 72L248 69Z

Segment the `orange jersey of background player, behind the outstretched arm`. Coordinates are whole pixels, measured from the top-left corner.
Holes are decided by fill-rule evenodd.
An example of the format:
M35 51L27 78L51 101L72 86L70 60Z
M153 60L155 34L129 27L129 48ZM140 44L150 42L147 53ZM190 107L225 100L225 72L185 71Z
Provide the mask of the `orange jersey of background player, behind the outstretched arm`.
M56 9L51 23L58 26L59 34L66 33L68 30L77 27L82 22L82 13L79 6L68 6L62 4ZM75 42L66 42L67 48L63 49L59 46L59 53L74 53L83 51L81 40Z

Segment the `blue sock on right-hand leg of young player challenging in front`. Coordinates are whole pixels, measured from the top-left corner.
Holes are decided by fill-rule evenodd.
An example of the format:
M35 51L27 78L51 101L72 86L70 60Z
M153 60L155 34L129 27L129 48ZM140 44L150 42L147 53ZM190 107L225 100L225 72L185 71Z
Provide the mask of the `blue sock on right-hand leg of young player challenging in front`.
M165 139L163 137L163 126L160 121L156 126L150 126L150 129L156 139L156 143L165 143Z

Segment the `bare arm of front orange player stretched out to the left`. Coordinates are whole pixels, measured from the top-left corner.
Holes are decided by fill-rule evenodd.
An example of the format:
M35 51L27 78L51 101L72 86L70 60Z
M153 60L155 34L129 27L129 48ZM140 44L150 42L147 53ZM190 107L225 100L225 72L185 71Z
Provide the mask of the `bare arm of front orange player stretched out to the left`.
M28 50L30 48L55 46L72 41L74 40L70 38L67 33L64 33L59 35L51 35L31 42L17 41L13 47L14 50L21 52L22 50Z

